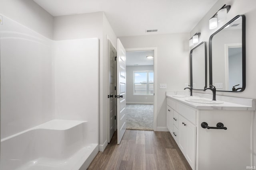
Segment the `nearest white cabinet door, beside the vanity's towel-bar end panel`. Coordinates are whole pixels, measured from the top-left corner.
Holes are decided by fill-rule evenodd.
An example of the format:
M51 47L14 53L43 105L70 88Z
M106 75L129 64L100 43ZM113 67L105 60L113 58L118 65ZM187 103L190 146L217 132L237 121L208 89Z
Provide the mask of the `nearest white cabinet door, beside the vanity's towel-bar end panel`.
M195 169L196 162L196 126L190 122L186 122L187 144L186 144L186 159L191 168Z

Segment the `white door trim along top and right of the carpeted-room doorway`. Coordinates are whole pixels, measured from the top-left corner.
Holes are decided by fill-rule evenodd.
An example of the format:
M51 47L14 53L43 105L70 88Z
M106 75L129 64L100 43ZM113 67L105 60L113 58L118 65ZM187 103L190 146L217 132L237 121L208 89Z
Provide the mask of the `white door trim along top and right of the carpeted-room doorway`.
M157 127L157 47L146 47L146 48L127 48L125 51L154 51L154 119L153 129L156 131Z

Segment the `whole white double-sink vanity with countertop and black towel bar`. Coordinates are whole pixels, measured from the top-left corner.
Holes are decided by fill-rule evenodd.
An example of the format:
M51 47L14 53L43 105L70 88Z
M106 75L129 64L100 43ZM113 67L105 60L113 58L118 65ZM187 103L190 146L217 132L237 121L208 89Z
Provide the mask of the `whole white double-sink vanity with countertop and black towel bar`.
M254 165L255 99L217 95L212 104L210 94L166 92L166 97L167 128L193 170Z

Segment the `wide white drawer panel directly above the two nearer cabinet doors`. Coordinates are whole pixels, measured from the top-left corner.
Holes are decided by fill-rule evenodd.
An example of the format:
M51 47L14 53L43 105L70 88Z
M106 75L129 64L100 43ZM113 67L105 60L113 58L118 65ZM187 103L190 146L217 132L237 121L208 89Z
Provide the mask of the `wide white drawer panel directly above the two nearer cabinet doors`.
M190 122L192 122L194 125L196 124L196 111L194 109L177 103L176 111L180 113L180 115L188 119Z

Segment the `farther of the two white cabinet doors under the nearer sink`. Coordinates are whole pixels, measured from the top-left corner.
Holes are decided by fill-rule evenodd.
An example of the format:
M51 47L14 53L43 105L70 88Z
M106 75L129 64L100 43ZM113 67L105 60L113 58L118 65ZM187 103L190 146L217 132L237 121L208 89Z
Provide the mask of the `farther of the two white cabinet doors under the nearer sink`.
M187 145L187 130L186 130L186 119L179 116L178 128L179 128L179 143L178 146L182 153L186 156L186 145Z

